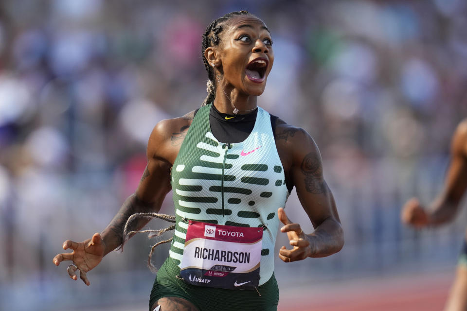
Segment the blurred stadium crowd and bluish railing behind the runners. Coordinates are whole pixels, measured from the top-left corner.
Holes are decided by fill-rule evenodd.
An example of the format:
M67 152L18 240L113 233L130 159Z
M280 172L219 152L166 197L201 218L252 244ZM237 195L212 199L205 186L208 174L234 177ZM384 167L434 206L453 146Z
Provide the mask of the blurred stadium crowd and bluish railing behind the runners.
M147 310L154 241L110 253L90 287L52 258L104 229L133 193L154 125L202 103L201 35L241 9L274 40L258 104L316 140L345 231L331 257L277 258L279 310L306 309L287 300L295 288L440 271L449 284L466 214L416 231L399 212L440 190L467 116L467 1L1 0L1 310ZM286 211L312 232L295 191ZM173 214L170 195L162 212ZM280 234L276 252L286 243ZM167 255L159 247L154 264Z

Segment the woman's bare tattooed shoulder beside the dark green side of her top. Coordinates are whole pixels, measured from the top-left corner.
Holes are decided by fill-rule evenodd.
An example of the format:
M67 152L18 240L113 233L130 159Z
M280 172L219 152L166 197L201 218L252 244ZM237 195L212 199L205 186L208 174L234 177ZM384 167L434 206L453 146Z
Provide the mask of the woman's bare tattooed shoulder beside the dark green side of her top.
M178 118L159 121L149 137L147 156L173 163L194 116L195 110Z

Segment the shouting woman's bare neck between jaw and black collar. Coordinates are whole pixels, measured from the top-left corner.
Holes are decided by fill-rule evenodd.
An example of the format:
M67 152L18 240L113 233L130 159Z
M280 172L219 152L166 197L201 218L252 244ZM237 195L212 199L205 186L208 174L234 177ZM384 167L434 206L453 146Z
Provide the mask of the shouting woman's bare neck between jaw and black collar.
M233 87L219 84L213 104L221 113L234 114L235 107L238 114L247 114L256 108L256 98L257 96L243 94Z

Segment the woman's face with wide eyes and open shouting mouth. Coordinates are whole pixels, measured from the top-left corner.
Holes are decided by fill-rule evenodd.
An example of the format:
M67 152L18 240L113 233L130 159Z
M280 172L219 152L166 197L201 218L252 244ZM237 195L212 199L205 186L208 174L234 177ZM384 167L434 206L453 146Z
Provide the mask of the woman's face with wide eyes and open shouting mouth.
M219 52L225 82L244 94L261 95L274 62L268 28L249 15L234 17L224 27Z

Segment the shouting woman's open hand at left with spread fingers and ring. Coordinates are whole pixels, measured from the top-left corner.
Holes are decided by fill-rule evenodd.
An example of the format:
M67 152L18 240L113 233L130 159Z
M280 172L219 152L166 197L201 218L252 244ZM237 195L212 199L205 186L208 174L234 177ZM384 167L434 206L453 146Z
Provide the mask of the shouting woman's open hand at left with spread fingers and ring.
M71 253L57 254L52 259L54 264L58 266L62 261L72 260L77 269L72 265L68 266L68 274L73 280L77 280L76 270L79 270L79 277L89 286L90 283L86 273L97 266L104 257L105 243L102 241L101 235L94 233L92 238L83 242L73 242L71 240L63 242L63 249L69 248L73 251Z

